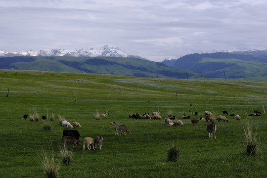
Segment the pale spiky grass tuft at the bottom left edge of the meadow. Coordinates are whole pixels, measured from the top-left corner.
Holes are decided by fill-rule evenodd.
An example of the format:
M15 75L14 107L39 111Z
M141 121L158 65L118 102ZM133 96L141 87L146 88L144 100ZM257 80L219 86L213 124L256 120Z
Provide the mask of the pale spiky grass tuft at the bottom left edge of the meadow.
M37 155L38 157L36 159L43 168L46 178L59 178L60 161L54 158L52 145L49 146L48 143L48 150L45 150L44 147L39 145Z

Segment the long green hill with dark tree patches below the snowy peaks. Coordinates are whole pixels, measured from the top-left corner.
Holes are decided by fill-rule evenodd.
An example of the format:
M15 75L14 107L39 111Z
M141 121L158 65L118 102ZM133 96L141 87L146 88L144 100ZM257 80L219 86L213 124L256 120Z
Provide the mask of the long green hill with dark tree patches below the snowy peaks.
M134 77L180 79L205 77L205 75L199 75L189 70L172 69L158 62L118 57L3 57L0 58L0 69L115 74Z

